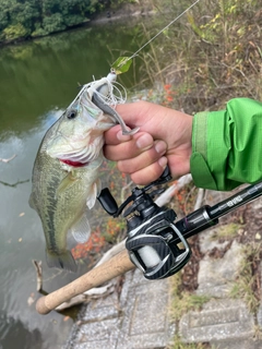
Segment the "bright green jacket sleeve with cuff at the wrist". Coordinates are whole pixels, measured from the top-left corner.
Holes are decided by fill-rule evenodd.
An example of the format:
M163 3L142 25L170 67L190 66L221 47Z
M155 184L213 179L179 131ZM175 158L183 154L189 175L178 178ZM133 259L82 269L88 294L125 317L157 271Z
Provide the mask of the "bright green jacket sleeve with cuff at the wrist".
M262 103L231 99L194 116L191 173L196 186L227 191L262 180Z

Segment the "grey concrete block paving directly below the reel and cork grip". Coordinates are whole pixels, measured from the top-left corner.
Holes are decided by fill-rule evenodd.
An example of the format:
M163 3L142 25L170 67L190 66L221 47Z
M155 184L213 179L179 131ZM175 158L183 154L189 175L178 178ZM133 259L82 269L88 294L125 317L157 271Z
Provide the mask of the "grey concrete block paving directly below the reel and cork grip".
M84 305L64 349L162 349L175 333L168 317L168 280L129 272L117 292Z

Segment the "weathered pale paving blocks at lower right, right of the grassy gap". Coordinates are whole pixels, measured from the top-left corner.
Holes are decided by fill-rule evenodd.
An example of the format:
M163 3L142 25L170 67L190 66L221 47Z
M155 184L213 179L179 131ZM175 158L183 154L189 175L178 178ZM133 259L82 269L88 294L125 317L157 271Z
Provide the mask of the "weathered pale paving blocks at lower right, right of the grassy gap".
M223 243L212 240L213 234L213 230L201 233L202 252L211 252L214 245L224 248ZM241 258L241 245L234 241L223 258L212 258L206 254L200 262L196 293L210 296L211 300L201 312L190 311L180 320L179 333L183 341L210 342L219 349L262 348L262 341L254 340L254 316L243 301L228 298Z

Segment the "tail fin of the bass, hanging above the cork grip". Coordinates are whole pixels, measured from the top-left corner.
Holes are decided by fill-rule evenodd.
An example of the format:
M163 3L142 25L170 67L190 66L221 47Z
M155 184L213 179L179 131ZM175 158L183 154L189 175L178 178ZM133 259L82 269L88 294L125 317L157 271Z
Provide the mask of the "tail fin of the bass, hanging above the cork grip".
M46 258L49 267L62 268L73 273L78 270L78 265L70 251L64 251L63 253L58 254L46 250Z

